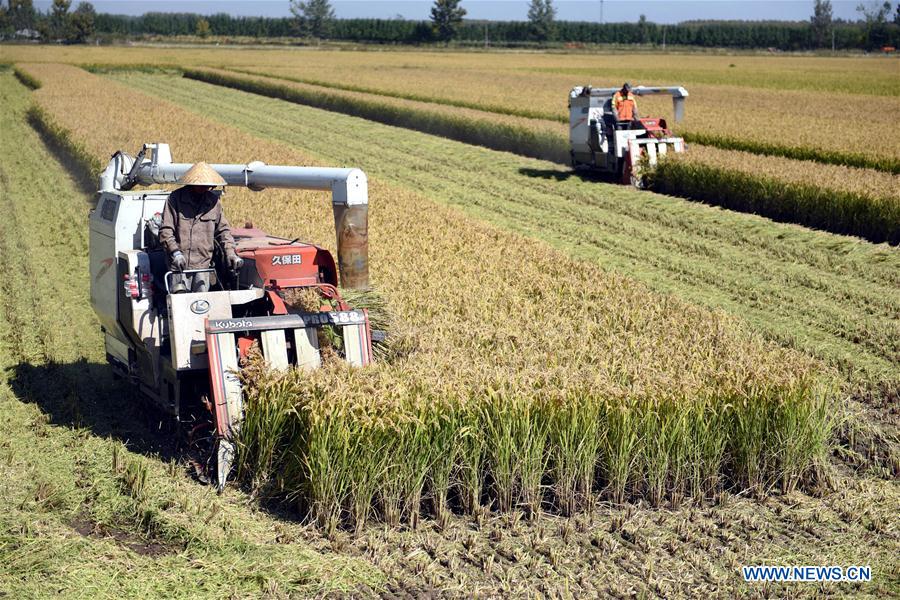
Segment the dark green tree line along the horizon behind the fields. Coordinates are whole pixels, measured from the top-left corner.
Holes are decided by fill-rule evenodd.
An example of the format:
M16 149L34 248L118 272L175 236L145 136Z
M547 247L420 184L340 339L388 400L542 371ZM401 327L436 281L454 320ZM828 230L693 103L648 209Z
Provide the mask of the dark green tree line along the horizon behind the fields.
M515 46L548 42L568 44L644 44L723 48L866 49L900 45L900 3L861 5L855 22L832 18L829 0L814 0L808 22L694 21L662 25L644 16L636 23L558 21L552 0L531 0L527 21L465 20L460 0L436 0L428 21L337 19L328 0L292 0L291 17L235 17L228 14L146 13L141 16L96 14L88 2L70 12L70 0L54 0L46 14L31 0L7 0L0 6L0 32L11 37L33 30L44 40L84 41L141 35L316 38L381 44L457 42Z

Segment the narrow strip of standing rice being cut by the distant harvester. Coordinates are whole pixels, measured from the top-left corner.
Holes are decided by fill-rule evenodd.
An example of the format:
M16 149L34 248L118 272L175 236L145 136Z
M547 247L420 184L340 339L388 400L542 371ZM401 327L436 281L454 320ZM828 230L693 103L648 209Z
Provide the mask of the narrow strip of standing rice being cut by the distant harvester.
M220 69L186 69L191 79L567 164L566 126L342 91ZM654 177L664 193L865 237L900 241L900 176L691 144L681 162Z

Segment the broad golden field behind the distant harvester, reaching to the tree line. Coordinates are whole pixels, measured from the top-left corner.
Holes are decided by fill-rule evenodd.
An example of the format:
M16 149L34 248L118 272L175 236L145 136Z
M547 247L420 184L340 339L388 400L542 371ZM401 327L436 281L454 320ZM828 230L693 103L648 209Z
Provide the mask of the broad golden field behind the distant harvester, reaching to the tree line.
M341 52L172 48L6 49L16 62L235 68L336 88L456 104L548 120L565 117L573 85L685 85L681 133L699 143L774 145L851 155L896 170L900 142L884 136L900 117L889 57L581 55L473 52ZM314 59L310 57L314 56ZM375 56L377 60L369 60ZM642 101L667 115L671 103ZM850 106L863 105L854 111ZM735 149L750 149L748 147ZM801 157L801 156L798 156ZM857 164L856 166L863 166Z

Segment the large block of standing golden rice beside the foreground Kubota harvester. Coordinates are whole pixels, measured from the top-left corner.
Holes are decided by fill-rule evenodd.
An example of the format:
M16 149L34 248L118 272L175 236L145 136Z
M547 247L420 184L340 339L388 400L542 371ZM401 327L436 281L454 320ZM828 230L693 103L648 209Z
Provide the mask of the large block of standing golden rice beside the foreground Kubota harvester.
M69 130L94 156L154 139L186 161L316 162L79 69L24 68L43 82L40 114L58 125L48 130ZM122 120L123 104L147 109ZM601 489L655 502L722 485L790 489L821 457L827 384L807 359L721 313L371 183L373 280L417 352L367 369L263 371L241 439L247 478L326 529L415 523L423 504L444 519L451 497L535 513L548 501L577 510ZM333 235L321 195L236 190L226 204L275 234Z

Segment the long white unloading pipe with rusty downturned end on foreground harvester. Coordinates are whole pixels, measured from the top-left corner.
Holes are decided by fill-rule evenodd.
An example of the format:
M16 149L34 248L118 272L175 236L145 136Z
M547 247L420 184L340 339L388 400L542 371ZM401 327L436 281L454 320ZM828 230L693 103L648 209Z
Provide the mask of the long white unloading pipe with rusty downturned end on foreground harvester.
M168 144L144 144L137 157L116 152L100 175L100 191L175 183L192 163L173 163ZM341 285L369 287L369 186L359 169L288 167L263 162L211 164L228 185L330 190Z

